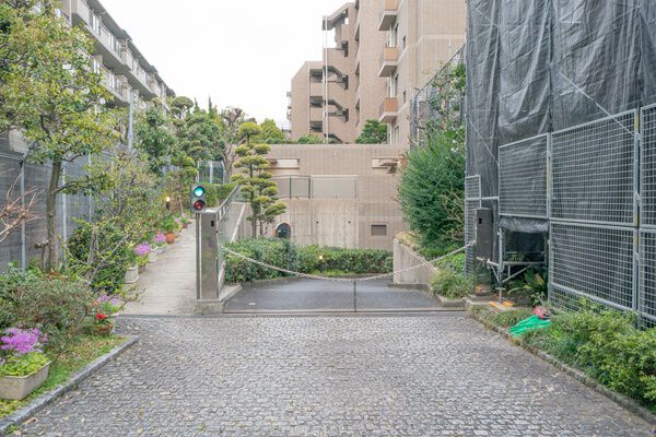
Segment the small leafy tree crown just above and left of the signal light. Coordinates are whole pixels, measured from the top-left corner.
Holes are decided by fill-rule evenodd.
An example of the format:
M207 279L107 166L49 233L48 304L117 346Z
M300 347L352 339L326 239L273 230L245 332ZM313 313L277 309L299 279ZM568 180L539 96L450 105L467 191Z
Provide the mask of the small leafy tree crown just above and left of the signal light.
M137 117L136 147L148 156L151 170L162 174L162 167L169 164L176 145L175 137L166 127L166 118L159 109L148 109Z

